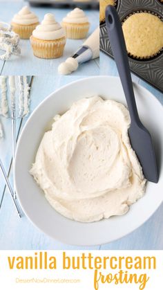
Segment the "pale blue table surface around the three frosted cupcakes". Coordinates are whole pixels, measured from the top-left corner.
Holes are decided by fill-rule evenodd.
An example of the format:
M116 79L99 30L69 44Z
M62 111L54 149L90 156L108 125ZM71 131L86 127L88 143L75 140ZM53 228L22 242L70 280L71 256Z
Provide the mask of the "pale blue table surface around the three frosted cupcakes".
M27 5L26 1L8 1L0 0L0 21L10 23L15 13L19 12L23 6ZM12 7L12 8L11 8ZM53 13L58 22L66 16L70 9L57 9L52 7L31 7L30 10L35 12L39 21L44 19L46 13ZM72 9L71 9L72 10ZM99 12L97 10L85 10L90 21L90 30L88 35L93 33L99 25ZM43 60L35 57L32 53L29 39L20 40L21 55L12 55L10 60L3 62L0 60L0 73L3 75L40 75L55 74L61 62L64 62L70 55L73 55L77 48L81 46L84 39L67 39L64 49L64 55L55 60ZM75 72L75 75L98 75L99 59L91 60L87 64L82 64Z

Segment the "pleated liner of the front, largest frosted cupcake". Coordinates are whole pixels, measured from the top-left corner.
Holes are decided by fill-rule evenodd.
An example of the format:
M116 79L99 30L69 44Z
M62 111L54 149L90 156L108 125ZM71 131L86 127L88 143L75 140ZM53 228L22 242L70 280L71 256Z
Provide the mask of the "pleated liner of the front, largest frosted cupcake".
M57 58L64 53L64 46L66 44L66 37L55 40L41 40L33 36L30 37L33 54L39 58Z

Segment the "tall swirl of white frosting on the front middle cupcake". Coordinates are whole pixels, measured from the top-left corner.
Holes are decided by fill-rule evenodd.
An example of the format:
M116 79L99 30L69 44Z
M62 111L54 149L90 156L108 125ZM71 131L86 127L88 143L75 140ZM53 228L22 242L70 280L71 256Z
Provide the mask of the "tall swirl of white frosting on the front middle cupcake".
M55 21L55 17L51 13L44 16L44 20L33 30L32 35L43 40L55 40L65 37L64 29Z

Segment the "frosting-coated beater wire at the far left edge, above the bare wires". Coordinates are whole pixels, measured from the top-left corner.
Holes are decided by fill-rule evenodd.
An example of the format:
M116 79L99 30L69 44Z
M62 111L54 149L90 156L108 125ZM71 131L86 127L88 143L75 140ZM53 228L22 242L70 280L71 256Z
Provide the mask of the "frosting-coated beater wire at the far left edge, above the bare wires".
M0 88L1 88L1 107L0 114L3 117L8 118L8 98L7 98L7 76L0 76Z

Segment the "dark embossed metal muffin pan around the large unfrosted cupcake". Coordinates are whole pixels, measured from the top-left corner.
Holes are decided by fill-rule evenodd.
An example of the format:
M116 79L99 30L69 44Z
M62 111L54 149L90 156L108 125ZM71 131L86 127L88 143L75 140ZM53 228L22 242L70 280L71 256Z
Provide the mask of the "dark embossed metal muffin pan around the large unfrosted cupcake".
M150 11L163 19L163 6L159 0L117 0L117 12L121 21L135 11ZM100 50L113 57L106 24L100 24ZM128 57L131 71L163 92L163 51L146 60Z

